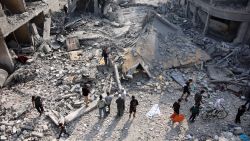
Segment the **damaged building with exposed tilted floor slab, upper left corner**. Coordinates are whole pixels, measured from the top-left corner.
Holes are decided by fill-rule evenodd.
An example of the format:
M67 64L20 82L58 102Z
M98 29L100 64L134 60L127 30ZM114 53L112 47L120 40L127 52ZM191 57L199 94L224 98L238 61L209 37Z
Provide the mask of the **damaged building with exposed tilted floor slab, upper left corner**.
M14 71L11 50L19 54L25 53L25 48L34 49L34 26L35 32L48 36L43 32L50 29L50 13L56 10L59 10L58 0L0 0L1 69Z

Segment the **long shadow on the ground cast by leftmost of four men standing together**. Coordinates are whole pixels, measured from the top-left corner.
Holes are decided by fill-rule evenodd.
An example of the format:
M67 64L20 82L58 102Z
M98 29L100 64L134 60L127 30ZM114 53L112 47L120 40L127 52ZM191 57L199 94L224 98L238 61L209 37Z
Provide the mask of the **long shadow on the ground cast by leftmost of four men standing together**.
M104 119L99 119L93 126L92 129L89 131L88 134L86 134L84 136L84 141L88 141L88 140L93 140L93 138L99 133L99 131L102 128Z

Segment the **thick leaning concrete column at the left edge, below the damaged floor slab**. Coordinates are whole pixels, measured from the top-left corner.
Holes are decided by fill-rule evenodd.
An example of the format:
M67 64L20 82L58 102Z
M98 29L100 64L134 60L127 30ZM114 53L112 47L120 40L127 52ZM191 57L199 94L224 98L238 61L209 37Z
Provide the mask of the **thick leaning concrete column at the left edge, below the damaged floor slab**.
M6 69L9 73L14 71L14 63L9 53L0 29L0 68Z

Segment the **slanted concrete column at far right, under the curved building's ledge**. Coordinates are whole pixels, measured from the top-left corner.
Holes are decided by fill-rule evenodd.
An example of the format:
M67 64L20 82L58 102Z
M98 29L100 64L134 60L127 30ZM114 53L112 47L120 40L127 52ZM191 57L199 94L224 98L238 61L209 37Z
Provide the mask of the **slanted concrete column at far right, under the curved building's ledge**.
M248 22L242 22L240 24L237 36L236 36L236 38L233 41L234 43L242 43L244 41L245 35L246 35L246 33L248 31L248 28L249 28L248 25L249 25Z

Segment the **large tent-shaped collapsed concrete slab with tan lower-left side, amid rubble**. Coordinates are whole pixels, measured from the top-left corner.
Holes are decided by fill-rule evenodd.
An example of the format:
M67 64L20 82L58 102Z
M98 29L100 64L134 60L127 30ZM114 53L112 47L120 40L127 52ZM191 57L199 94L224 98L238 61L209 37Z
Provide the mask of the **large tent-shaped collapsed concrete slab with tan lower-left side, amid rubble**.
M158 14L149 15L144 22L145 27L139 38L124 56L123 72L133 68L140 60L151 70L154 67L186 67L211 59L205 51L185 38L178 27Z

